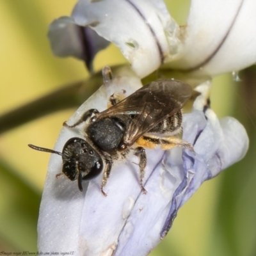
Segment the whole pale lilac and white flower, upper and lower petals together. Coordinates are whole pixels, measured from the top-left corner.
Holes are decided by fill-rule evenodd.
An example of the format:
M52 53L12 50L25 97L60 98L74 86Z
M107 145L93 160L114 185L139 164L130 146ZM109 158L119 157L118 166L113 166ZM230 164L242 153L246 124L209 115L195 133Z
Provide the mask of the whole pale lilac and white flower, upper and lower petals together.
M105 79L68 124L74 124L87 109L106 109L114 92L125 90L129 95L138 90L140 77L163 63L165 68L189 71L202 79L252 65L256 61L256 31L250 28L256 19L252 11L255 5L249 0L193 0L188 26L180 28L160 0L78 1L72 17L65 18L67 24L73 24L74 29L89 26L114 42L136 74ZM54 52L82 58L79 40L75 48L63 42L58 52L56 45L60 42L52 27L58 29L60 23L54 22L49 33ZM63 31L61 35L65 35ZM207 106L210 86L210 80L196 86L201 94L193 111L183 117L183 140L194 146L196 156L182 148L147 150L147 195L141 193L138 184L136 157L116 164L105 197L100 192L100 176L83 182L83 193L77 182L65 175L56 179L62 161L60 156L52 155L40 207L38 249L72 255L147 255L167 234L179 208L202 182L239 161L248 149L243 125L231 117L219 120ZM83 138L83 127L63 127L54 149L62 151L69 138Z

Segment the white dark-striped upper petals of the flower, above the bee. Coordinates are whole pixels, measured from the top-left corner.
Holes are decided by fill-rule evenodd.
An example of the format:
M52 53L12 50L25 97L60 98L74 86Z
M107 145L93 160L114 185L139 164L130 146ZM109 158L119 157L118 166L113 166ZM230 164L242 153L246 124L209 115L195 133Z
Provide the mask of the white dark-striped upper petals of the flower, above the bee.
M193 0L187 25L180 27L161 0L80 0L65 24L63 17L52 23L49 36L53 49L58 49L55 54L83 59L83 52L74 53L78 43L67 24L86 26L116 44L140 77L163 63L214 76L255 63L255 5L252 0ZM68 49L60 49L64 42L57 30L70 35L65 40ZM87 44L99 42L89 38Z

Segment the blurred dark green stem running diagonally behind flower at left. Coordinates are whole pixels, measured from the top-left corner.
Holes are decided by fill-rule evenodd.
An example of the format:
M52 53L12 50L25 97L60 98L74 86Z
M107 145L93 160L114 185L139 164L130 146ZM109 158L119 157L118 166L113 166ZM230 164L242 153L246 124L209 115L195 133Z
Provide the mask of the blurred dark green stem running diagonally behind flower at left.
M90 77L87 81L67 84L44 97L13 109L0 116L0 134L35 118L80 106L102 84L101 76Z

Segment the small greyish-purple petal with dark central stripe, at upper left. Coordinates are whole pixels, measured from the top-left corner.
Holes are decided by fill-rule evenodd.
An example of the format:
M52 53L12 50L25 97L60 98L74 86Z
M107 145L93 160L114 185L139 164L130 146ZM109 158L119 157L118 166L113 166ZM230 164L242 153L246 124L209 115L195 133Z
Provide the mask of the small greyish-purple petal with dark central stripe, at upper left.
M56 56L73 56L86 63L92 71L93 58L109 41L99 36L89 27L78 26L71 17L60 17L49 26L48 37Z

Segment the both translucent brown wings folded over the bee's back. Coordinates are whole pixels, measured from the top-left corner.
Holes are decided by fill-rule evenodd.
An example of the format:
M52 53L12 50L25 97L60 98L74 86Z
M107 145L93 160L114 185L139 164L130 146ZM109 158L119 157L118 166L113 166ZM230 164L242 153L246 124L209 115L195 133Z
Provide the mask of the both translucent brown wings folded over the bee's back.
M134 115L124 136L124 143L132 145L159 122L177 113L189 100L191 93L191 86L179 80L157 80L106 109L99 117Z

